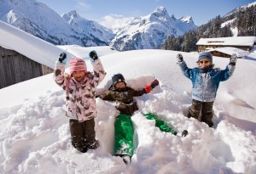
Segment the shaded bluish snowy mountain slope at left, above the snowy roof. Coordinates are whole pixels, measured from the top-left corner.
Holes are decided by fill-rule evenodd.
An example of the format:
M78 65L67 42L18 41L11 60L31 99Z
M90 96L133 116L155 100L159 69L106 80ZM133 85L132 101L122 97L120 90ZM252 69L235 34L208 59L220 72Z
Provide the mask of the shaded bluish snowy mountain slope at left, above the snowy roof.
M61 18L54 10L36 0L0 1L0 20L59 45L102 46L108 45L108 40L113 36L107 28L81 18L75 11Z

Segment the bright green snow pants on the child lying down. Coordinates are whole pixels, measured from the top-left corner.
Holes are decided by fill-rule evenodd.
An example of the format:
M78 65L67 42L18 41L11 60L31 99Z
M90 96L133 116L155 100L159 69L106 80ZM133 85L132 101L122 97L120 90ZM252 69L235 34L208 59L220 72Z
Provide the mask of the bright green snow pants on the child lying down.
M166 125L164 121L158 120L152 114L145 114L148 120L154 120L155 126L159 127L162 132L171 132L175 134L173 129ZM131 115L120 114L114 122L114 154L133 155L133 126Z

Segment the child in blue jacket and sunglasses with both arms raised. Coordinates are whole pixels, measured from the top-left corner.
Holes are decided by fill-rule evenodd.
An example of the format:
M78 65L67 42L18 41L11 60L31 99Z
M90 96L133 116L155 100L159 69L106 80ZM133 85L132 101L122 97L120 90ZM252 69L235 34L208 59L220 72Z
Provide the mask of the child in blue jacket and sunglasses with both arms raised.
M188 117L199 119L201 113L201 121L212 127L213 102L216 98L220 81L226 81L232 76L236 67L236 53L232 54L230 64L225 70L213 68L212 53L203 52L199 55L196 68L189 69L183 55L177 54L177 65L180 66L183 75L192 81L192 105L189 109Z

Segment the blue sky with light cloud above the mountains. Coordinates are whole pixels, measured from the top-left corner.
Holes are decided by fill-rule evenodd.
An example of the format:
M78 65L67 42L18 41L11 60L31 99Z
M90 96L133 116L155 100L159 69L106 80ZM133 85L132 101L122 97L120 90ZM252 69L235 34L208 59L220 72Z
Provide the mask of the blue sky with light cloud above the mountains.
M58 14L76 10L87 20L109 25L116 18L140 17L151 14L163 6L177 19L192 16L195 25L206 24L217 15L223 16L232 9L255 0L38 0Z

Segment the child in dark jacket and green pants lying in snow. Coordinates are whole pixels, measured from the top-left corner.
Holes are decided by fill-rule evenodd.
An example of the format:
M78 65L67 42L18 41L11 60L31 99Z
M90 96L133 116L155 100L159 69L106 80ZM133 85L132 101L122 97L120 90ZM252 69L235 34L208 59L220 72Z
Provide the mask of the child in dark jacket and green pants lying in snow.
M133 126L131 122L131 115L138 110L137 103L133 97L142 96L145 93L150 93L154 87L159 85L159 81L155 80L146 85L143 89L135 90L126 86L125 78L121 74L112 77L113 85L109 90L99 97L103 100L115 101L115 107L120 114L114 122L114 154L123 158L125 164L131 162L133 154ZM155 126L159 127L162 132L171 132L177 135L172 127L167 126L164 121L158 120L152 114L145 114L148 120L154 120ZM187 135L184 131L182 136Z

